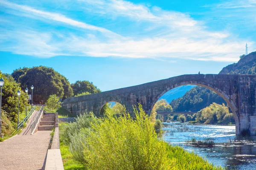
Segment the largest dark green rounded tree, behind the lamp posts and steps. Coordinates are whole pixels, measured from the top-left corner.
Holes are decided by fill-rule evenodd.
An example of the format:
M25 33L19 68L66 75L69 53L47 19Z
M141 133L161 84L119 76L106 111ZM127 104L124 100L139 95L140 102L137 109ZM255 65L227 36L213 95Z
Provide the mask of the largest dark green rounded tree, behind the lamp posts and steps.
M22 74L24 73L24 74ZM33 68L20 68L14 71L13 76L20 77L17 79L22 88L29 88L33 85L33 103L40 103L41 100L46 101L50 95L56 94L59 98L67 98L73 96L73 89L70 82L56 72L53 68L38 66Z

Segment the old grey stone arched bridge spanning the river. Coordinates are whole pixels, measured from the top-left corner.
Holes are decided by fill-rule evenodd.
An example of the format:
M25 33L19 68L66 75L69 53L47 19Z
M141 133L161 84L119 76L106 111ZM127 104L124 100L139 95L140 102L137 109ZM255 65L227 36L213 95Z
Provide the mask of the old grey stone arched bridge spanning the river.
M215 91L230 107L236 121L236 134L250 130L256 135L256 75L246 74L188 74L142 85L105 91L98 94L71 97L62 106L72 113L93 112L99 116L100 109L108 102L125 105L132 114L133 105L143 105L150 114L157 100L167 91L182 85L200 85Z

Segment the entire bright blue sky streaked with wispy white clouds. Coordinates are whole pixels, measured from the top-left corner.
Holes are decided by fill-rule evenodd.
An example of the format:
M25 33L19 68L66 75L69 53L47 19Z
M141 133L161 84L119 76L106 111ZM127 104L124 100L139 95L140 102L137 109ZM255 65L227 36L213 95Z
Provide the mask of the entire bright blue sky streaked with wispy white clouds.
M0 70L45 65L102 91L218 74L256 51L256 0L0 0Z

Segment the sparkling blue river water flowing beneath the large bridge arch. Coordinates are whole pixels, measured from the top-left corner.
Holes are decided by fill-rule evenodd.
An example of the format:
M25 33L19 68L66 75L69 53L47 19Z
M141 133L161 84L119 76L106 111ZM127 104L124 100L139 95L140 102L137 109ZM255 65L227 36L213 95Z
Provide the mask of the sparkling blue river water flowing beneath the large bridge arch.
M256 139L237 139L235 126L195 125L190 123L163 123L163 138L172 145L180 145L195 152L214 165L228 170L256 170ZM195 147L188 140L212 139L214 147Z

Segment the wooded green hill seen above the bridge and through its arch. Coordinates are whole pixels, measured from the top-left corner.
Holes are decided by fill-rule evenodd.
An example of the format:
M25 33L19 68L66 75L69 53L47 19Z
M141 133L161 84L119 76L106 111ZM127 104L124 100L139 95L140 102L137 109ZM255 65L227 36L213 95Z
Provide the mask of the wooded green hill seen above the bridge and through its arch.
M256 52L241 56L239 62L227 65L219 74L256 74ZM226 104L224 99L215 92L197 86L180 98L173 99L170 105L172 105L173 111L199 111L212 102Z

